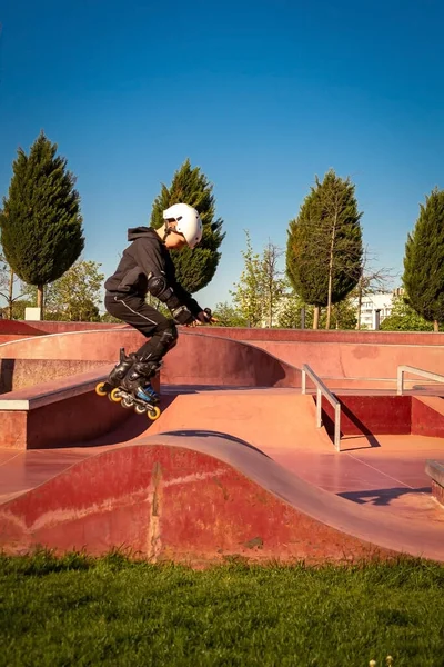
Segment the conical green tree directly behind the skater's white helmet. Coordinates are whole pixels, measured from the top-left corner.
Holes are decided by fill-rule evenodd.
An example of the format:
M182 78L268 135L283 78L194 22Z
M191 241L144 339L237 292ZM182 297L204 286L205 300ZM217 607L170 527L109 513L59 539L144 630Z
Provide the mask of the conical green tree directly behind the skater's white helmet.
M221 259L219 248L225 237L222 219L214 219L215 199L213 186L199 167L191 168L190 160L175 171L170 188L162 185L151 212L154 229L163 225L163 211L173 203L185 202L198 211L203 225L202 241L194 250L184 248L172 252L179 282L190 292L196 292L212 280Z

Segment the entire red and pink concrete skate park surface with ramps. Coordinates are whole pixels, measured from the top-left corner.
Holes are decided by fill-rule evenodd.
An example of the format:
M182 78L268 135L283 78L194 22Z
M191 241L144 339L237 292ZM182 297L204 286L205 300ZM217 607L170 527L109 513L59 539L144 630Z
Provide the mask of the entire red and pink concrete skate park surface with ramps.
M444 561L430 476L444 459L444 386L412 375L396 395L401 365L444 375L444 335L182 329L150 422L94 394L139 334L60 322L26 334L0 345L6 551ZM301 392L303 364L341 402L340 451L330 404L316 427L310 379Z

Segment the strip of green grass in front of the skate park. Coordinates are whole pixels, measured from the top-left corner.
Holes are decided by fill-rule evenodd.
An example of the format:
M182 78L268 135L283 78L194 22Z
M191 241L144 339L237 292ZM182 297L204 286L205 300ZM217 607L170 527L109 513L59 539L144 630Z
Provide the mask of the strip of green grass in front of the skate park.
M444 567L0 556L0 665L444 665Z

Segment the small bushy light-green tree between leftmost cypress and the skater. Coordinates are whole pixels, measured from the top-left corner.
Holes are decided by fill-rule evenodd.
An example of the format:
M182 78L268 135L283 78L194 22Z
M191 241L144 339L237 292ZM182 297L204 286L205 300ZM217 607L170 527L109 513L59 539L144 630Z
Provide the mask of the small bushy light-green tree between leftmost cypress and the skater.
M100 321L99 303L103 273L97 261L75 262L59 280L47 288L47 311L51 319Z

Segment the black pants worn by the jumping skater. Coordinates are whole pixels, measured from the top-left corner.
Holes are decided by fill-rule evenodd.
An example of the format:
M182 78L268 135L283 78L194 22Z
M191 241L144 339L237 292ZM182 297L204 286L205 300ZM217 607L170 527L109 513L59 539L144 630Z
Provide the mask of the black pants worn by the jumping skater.
M178 340L174 321L149 306L142 297L107 292L104 307L110 315L150 339L137 350L139 359L158 364L174 347Z

